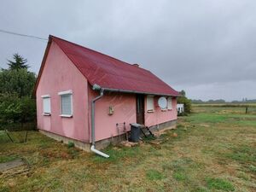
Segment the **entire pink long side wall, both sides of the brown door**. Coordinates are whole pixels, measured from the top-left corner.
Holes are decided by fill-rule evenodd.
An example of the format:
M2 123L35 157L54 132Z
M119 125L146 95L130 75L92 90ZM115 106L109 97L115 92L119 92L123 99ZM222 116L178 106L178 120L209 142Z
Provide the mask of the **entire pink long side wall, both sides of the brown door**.
M89 88L89 105L99 93ZM145 96L145 125L152 126L177 119L176 98L172 99L172 110L162 111L157 105L159 96L154 96L154 113L147 112L147 99ZM109 115L109 107L113 107L114 113ZM89 108L90 109L90 108ZM118 135L117 123L125 122L127 130L130 131L131 123L136 123L136 95L122 93L105 93L96 101L95 110L96 141Z

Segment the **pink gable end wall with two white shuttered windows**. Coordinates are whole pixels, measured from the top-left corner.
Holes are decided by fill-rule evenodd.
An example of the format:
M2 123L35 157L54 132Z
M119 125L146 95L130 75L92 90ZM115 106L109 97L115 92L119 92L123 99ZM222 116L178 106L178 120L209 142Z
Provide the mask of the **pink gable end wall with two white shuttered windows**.
M52 42L37 89L38 129L89 142L87 84L67 55ZM65 90L73 90L72 118L60 117L58 92ZM43 115L43 95L50 96L51 116Z

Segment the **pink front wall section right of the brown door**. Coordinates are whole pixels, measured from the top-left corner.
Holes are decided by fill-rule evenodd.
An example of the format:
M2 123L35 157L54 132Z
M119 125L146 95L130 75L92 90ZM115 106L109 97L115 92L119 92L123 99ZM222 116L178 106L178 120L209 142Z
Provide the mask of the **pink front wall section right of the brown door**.
M145 108L145 125L159 125L170 120L177 119L177 100L172 98L172 110L162 111L158 106L157 102L160 96L154 96L154 112L148 113L147 108ZM147 99L145 98L145 106L147 106Z

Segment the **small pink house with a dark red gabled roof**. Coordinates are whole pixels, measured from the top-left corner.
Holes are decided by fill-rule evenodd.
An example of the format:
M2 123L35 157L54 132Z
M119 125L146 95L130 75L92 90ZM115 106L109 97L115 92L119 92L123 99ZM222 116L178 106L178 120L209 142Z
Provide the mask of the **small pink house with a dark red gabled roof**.
M54 36L35 91L39 131L96 153L124 133L117 124L160 129L177 119L178 92L153 73Z

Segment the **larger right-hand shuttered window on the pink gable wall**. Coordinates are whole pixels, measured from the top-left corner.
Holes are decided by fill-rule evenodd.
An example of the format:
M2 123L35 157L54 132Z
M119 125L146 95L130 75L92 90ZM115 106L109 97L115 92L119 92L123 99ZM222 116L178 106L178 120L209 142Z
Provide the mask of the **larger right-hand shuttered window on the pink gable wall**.
M61 99L61 117L73 116L72 90L60 92L58 94Z

